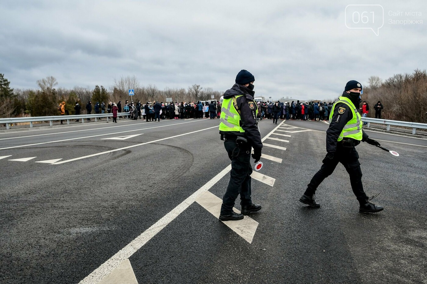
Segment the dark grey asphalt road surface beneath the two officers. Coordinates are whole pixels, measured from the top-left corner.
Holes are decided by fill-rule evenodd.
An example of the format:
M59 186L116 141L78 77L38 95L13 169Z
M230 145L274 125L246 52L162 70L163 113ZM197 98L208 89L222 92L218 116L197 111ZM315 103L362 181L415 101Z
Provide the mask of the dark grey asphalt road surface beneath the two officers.
M359 213L342 165L311 209L298 199L328 125L279 123L260 122L282 149L265 146L276 160L252 179L250 241L191 199L228 184L218 119L0 133L0 283L427 283L427 139L367 132L398 157L357 146L383 212Z

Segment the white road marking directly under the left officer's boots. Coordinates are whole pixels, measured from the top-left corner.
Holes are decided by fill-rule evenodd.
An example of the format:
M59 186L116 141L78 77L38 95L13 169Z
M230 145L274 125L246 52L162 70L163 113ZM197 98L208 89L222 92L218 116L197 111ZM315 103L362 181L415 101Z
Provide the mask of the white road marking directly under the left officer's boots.
M221 212L222 199L215 194L205 191L197 197L196 202L203 208L208 210L216 219L219 218ZM239 210L233 207L234 212L240 213ZM222 222L230 229L237 233L240 237L244 238L248 243L252 243L255 232L258 227L258 222L251 217L245 216L243 220L238 221L225 221Z

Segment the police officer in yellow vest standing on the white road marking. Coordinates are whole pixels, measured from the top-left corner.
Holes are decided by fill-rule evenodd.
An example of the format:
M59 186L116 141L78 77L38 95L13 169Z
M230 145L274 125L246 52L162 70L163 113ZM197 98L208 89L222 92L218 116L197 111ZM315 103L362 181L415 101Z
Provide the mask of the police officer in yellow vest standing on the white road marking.
M251 199L251 150L252 158L258 162L261 158L261 134L257 124L257 104L254 101L254 76L241 70L236 84L225 91L222 102L219 133L224 147L231 159L230 181L222 199L219 220L241 220L243 214L261 209ZM240 194L241 213L233 211L234 201Z

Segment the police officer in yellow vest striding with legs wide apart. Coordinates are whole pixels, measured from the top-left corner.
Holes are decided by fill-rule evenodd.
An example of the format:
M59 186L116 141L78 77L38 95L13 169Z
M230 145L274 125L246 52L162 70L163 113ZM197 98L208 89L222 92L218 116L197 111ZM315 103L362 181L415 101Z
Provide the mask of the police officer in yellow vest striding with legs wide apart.
M360 141L367 142L371 145L380 145L374 139L370 139L362 130L362 119L358 112L360 92L362 85L354 80L348 81L345 85L345 90L339 100L336 101L329 115L329 128L326 131L326 154L323 159L323 165L320 170L314 175L307 186L307 190L299 199L302 203L311 207L320 207L316 203L314 194L316 188L322 181L333 173L336 165L342 163L350 176L351 188L354 195L360 203L360 212L379 212L383 210L383 206L375 205L363 191L362 171L360 170L359 154L357 154L355 146L360 144Z

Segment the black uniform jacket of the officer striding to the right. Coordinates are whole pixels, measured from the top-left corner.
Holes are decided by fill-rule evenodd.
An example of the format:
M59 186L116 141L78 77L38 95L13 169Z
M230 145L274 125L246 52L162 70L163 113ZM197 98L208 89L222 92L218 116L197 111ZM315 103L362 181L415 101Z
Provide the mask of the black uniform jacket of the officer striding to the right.
M342 96L349 98L348 93L344 92L342 93ZM358 108L359 102L352 101L354 106ZM344 112L339 113L339 108L344 108ZM344 126L353 118L354 110L351 109L347 104L345 103L337 103L335 105L335 108L333 109L333 115L332 120L329 124L328 130L326 130L326 151L330 154L335 154L336 152L336 145L338 144L338 137L339 134L342 132L342 129L344 129ZM362 130L362 141L366 141L368 139L368 135ZM344 138L345 139L345 138Z

